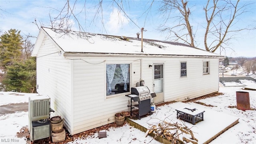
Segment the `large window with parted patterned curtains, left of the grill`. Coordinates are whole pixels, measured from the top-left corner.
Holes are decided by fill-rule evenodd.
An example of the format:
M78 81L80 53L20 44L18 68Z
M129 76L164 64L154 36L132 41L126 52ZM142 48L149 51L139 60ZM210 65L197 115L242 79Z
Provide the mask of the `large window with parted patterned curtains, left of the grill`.
M106 65L106 94L130 92L130 64Z

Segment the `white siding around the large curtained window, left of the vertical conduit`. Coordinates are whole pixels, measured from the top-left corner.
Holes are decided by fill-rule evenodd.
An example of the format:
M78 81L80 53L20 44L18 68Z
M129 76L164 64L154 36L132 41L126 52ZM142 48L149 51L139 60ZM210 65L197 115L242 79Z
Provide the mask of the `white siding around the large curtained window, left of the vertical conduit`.
M114 122L116 112L128 111L127 93L106 96L106 64L130 64L130 72L140 74L134 58L81 58L74 60L74 134ZM90 59L90 63L88 61ZM104 62L106 61L106 62ZM138 73L137 73L138 72ZM130 76L130 85L138 76ZM136 80L136 81L139 81ZM130 87L131 87L130 86ZM129 89L130 90L130 89Z

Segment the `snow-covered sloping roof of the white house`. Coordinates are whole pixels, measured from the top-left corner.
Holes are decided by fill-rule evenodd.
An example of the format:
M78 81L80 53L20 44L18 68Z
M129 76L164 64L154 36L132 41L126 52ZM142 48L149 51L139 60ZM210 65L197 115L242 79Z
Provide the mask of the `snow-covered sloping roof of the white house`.
M141 39L122 39L121 36L92 34L58 30L42 27L38 35L46 34L65 52L72 54L126 54L126 55L165 55L165 56L208 56L222 58L219 54L194 48L181 43L143 39L143 52L141 52ZM32 56L36 56L40 40L36 41Z

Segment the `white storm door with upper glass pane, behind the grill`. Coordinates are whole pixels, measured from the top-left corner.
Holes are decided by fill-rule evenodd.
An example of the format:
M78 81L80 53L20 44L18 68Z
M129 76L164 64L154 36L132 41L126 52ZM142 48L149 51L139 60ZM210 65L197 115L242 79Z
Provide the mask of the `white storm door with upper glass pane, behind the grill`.
M164 64L154 64L154 103L164 102Z

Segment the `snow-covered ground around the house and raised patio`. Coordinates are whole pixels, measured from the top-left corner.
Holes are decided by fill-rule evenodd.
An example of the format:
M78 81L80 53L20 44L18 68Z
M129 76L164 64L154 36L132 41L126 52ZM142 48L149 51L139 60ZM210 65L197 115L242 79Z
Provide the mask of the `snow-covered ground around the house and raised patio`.
M256 86L256 83L250 80L243 80L246 86ZM232 84L230 84L232 85ZM239 118L239 123L218 136L210 144L256 144L256 91L243 90L243 86L220 87L223 95L198 100L205 104L215 107L206 107L206 110L221 112L226 115ZM232 108L236 106L236 91L249 92L250 108L252 110L238 110ZM0 106L12 103L28 102L28 97L37 94L0 92ZM171 104L167 105L171 106ZM161 106L164 109L165 106ZM160 108L160 107L159 107ZM199 124L199 123L198 123ZM214 124L213 124L214 125ZM28 112L15 112L12 114L3 114L0 116L0 143L1 144L26 144L26 138L16 137L16 132L28 126ZM98 133L86 139L76 139L68 144L161 144L152 140L151 136L144 137L144 132L126 124L120 128L110 128L107 131L106 138L98 138Z

